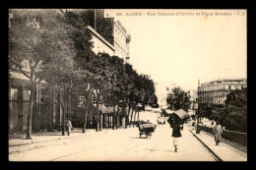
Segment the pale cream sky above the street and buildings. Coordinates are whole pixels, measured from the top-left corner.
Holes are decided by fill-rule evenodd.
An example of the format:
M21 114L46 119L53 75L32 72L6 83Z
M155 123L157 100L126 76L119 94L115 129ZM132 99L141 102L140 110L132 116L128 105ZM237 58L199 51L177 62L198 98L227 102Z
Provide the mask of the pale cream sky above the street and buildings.
M179 15L158 16L163 12ZM181 16L181 12L190 16ZM119 20L131 34L133 68L159 84L196 89L198 80L205 83L247 78L246 10L144 9L106 13ZM135 13L142 16L130 16Z

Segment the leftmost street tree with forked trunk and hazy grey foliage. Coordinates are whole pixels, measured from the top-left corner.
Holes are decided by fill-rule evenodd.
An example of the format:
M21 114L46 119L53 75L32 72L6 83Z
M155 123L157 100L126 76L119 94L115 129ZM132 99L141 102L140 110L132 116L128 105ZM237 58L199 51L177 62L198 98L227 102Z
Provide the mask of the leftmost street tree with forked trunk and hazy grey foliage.
M9 63L11 70L18 70L30 79L31 96L27 120L27 140L32 134L32 107L35 85L42 79L39 73L43 63L54 54L63 43L62 32L55 34L58 13L56 10L12 10L12 27L9 28ZM59 36L60 35L60 36ZM52 37L54 36L54 38ZM24 63L29 64L29 72Z

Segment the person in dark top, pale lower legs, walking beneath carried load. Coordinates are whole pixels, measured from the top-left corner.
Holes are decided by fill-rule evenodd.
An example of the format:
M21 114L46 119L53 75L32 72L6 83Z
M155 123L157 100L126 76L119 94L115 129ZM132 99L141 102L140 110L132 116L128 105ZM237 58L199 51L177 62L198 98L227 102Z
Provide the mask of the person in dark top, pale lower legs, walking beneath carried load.
M181 138L180 130L183 130L183 124L180 122L179 119L173 118L170 127L172 128L171 137L173 137L173 146L175 147L174 151L177 152L178 138Z

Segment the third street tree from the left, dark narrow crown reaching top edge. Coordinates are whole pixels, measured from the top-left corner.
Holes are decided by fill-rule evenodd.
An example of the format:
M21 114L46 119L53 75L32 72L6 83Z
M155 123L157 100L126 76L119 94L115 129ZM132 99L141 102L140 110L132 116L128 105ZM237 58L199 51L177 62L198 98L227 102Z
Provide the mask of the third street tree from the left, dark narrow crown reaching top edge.
M89 100L90 94L94 90L93 85L90 83L93 81L93 74L89 72L93 64L93 58L96 56L95 53L92 51L93 42L92 34L87 28L89 21L92 20L90 18L90 14L88 11L80 11L80 12L66 12L66 23L73 26L75 29L71 33L71 38L74 41L75 48L76 48L76 55L75 55L75 65L76 70L80 71L78 74L77 81L77 90L80 92L81 95L86 97L86 107L85 107L85 122L83 126L82 132L86 132L87 126L87 117L88 117L88 110L89 110Z

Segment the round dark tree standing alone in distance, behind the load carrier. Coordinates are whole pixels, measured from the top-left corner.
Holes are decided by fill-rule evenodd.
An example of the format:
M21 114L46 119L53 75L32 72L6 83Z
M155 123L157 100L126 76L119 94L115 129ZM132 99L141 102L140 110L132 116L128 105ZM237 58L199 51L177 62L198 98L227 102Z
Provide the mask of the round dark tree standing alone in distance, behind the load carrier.
M167 94L166 102L173 110L183 109L187 112L191 105L189 99L190 96L187 92L180 87L174 87L172 92Z

